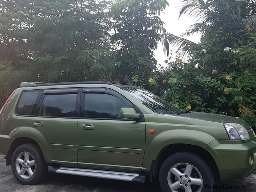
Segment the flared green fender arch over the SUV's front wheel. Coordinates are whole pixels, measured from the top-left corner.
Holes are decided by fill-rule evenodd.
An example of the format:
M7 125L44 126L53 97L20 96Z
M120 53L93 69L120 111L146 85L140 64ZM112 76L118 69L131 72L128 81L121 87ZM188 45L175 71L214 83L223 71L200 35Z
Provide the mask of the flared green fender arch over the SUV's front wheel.
M215 138L206 132L188 129L167 130L156 136L154 136L154 134L148 134L148 137L146 137L143 169L149 170L152 161L156 159L161 150L168 145L189 144L204 148L213 140L215 140Z

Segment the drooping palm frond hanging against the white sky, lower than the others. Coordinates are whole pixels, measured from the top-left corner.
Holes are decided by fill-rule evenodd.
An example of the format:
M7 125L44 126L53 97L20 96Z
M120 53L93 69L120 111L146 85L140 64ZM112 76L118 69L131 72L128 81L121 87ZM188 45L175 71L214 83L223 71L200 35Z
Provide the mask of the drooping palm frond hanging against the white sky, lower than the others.
M164 52L169 55L170 45L173 49L177 49L181 57L191 58L193 56L193 47L196 48L198 44L189 41L185 38L175 36L173 34L167 33L161 35L161 42L163 44Z

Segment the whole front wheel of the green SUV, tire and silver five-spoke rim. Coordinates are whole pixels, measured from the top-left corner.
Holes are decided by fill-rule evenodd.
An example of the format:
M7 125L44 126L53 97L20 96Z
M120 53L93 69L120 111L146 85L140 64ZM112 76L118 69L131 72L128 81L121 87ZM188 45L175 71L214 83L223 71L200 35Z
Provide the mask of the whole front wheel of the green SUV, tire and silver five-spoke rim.
M164 192L212 192L214 176L200 156L179 152L161 166L159 181Z

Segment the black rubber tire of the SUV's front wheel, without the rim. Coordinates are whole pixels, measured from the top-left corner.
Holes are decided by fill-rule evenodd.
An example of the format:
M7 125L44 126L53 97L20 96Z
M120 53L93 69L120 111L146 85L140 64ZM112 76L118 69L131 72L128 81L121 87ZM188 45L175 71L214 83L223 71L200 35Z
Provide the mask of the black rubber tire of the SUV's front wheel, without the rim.
M201 173L203 178L203 187L201 192L212 192L214 186L214 176L212 171L207 164L207 162L193 153L179 152L169 156L162 164L159 172L160 186L163 192L172 192L168 185L168 172L172 166L178 163L187 163L196 167L196 169ZM182 191L183 189L181 189ZM184 190L183 190L184 191Z

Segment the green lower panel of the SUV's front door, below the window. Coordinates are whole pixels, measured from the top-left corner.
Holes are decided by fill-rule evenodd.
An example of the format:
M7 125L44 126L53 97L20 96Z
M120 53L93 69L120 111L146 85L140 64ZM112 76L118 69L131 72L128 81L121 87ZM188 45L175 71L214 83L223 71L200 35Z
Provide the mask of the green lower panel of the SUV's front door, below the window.
M84 120L93 130L77 130L78 165L140 169L144 156L145 123L119 120Z

